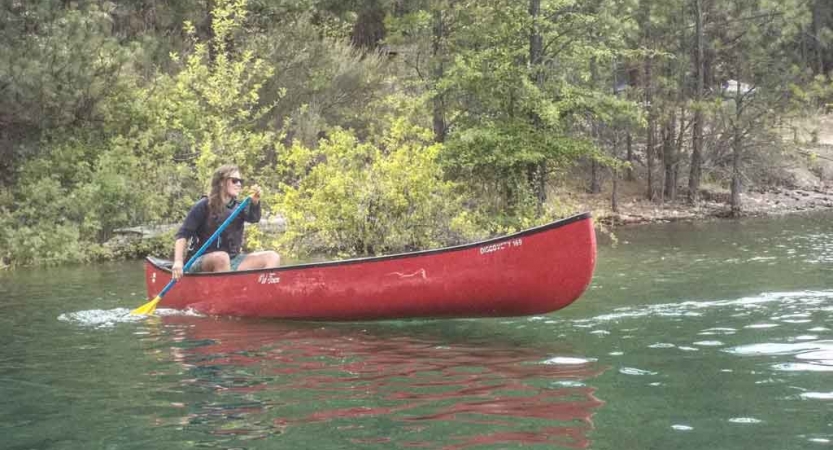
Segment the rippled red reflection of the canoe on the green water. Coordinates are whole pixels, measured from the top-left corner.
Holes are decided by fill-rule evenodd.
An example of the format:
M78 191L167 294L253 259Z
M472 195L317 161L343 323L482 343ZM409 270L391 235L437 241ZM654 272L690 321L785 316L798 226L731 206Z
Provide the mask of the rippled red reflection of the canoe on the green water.
M496 322L160 320L179 363L162 374L178 385L167 392L183 392L176 404L187 411L176 422L213 439L586 448L603 405L585 384L603 368L507 342Z

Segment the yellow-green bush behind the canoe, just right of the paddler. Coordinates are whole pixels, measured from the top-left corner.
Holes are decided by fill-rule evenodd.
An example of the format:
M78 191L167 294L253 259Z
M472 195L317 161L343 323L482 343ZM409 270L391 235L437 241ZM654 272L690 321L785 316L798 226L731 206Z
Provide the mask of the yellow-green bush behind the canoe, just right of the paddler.
M290 256L340 257L432 248L473 234L457 186L437 163L430 130L404 119L377 142L335 130L318 148L282 154L287 180L274 197L287 218L276 241Z

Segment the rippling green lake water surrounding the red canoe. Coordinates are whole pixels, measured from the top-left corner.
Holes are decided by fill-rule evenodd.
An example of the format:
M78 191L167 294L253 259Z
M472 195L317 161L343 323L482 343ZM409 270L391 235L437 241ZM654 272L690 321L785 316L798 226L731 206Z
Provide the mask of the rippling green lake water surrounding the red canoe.
M829 448L831 218L620 230L541 317L136 319L139 262L1 273L0 449Z

